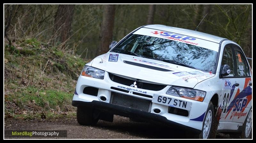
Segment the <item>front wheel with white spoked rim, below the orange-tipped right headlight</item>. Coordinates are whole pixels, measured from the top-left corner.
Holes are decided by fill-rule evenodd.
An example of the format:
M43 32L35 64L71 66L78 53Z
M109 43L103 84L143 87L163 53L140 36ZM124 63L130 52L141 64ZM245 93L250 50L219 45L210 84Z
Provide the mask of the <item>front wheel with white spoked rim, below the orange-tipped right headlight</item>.
M204 115L203 128L202 132L196 136L199 139L210 139L212 134L213 119L214 119L214 110L212 101L210 101L208 108Z

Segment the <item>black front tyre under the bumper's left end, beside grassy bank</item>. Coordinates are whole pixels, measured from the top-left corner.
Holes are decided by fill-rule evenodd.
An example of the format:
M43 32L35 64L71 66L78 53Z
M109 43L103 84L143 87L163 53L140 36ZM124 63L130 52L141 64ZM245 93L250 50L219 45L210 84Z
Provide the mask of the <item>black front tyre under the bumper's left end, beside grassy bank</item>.
M76 118L81 125L95 125L99 121L99 115L95 115L94 109L89 107L77 107Z

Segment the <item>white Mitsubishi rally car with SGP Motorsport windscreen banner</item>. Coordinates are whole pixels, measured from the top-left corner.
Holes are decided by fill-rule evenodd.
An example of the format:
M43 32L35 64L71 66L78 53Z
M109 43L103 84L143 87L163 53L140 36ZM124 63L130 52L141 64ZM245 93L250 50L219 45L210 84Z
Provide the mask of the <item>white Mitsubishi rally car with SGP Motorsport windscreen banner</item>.
M203 139L216 131L251 138L252 71L235 42L146 25L109 48L78 78L72 101L78 123L121 115L182 127Z

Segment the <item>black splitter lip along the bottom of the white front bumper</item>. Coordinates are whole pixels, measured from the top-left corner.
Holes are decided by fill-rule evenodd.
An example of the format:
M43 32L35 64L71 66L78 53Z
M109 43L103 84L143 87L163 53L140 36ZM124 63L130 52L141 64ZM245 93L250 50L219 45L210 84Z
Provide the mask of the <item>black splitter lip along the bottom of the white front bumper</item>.
M114 104L110 104L110 103L106 103L106 102L95 101L95 100L93 100L92 102L84 102L84 101L73 100L72 105L75 107L93 107L93 108L102 110L106 113L120 115L120 116L124 116L124 117L129 117L129 118L139 118L143 121L147 121L147 122L151 122L151 123L159 123L162 125L170 126L173 129L175 129L175 128L181 129L182 128L183 130L186 130L186 131L191 131L191 132L196 132L196 133L201 132L201 130L170 121L166 117L161 116L161 115L144 112L144 111L132 109L129 107L114 105Z

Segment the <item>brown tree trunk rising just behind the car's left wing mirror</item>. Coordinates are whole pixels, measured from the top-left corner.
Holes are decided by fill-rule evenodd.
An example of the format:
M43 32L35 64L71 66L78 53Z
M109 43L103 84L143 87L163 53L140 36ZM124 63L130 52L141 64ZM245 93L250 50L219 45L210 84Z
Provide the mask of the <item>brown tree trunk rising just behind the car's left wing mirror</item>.
M109 44L112 42L113 29L115 20L115 5L105 5L103 20L100 29L99 53L104 54L109 50Z

